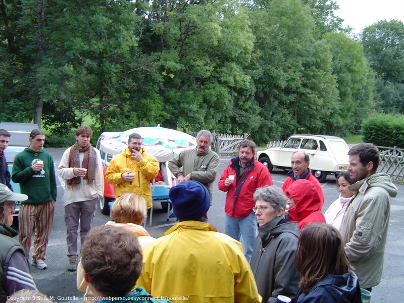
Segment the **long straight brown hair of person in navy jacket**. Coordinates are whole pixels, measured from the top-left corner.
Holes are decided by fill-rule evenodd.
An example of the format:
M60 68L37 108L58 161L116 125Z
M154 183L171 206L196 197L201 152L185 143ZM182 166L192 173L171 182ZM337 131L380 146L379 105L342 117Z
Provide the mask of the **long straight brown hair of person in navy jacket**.
M343 275L351 268L342 237L329 224L312 223L301 231L295 261L305 293L327 275Z

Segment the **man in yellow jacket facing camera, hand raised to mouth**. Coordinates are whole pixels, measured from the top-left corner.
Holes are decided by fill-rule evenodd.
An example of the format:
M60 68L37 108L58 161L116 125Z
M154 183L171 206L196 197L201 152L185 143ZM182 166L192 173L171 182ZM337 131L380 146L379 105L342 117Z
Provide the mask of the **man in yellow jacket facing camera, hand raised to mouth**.
M128 147L111 160L105 178L108 183L116 184L117 197L126 192L135 193L146 200L147 209L149 209L151 208L150 180L156 178L159 171L159 161L144 150L142 137L133 133L129 136Z

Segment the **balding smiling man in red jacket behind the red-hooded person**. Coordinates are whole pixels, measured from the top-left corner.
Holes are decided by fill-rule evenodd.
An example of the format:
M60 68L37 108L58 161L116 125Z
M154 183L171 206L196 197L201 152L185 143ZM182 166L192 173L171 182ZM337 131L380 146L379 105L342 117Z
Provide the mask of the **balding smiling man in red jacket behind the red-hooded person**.
M323 188L321 187L319 180L317 180L317 178L313 176L312 171L309 168L309 165L310 165L309 155L306 154L305 151L295 151L295 153L293 153L292 155L292 162L291 162L292 170L287 173L288 177L286 178L285 182L283 182L281 188L283 189L283 192L286 194L286 190L288 190L288 188L290 187L290 185L293 184L294 181L298 179L309 180L316 187L317 192L319 194L321 201L320 206L321 211L321 208L323 207L324 204Z

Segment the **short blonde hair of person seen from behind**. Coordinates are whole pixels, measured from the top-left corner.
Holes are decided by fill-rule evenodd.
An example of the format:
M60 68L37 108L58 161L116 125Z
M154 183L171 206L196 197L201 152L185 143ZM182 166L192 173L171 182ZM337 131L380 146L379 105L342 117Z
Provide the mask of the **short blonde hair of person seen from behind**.
M141 225L147 217L146 200L134 193L118 197L111 208L111 218L115 223Z

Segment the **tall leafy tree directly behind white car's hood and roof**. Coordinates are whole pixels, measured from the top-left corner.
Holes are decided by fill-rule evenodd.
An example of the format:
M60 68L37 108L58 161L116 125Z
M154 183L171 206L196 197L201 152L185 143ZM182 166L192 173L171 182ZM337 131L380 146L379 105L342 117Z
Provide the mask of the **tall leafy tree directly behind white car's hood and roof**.
M257 38L252 77L264 123L261 140L324 132L336 107L336 81L327 45L298 0L273 0L252 14Z

